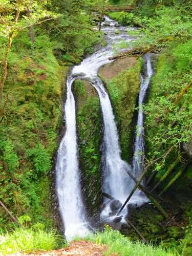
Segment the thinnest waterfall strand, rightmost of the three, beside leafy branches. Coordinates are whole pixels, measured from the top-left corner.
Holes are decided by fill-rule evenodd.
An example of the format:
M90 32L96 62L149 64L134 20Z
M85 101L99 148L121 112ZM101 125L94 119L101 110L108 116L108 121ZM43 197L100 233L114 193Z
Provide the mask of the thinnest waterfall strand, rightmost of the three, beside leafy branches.
M139 112L138 112L138 120L137 120L137 135L135 139L134 145L134 158L133 158L133 173L135 177L139 178L143 172L143 154L144 154L144 131L143 131L143 110L142 104L148 89L148 85L150 83L150 79L153 75L151 59L148 54L145 55L146 59L146 72L147 76L145 79L141 76L141 83L140 83L140 92L139 92Z

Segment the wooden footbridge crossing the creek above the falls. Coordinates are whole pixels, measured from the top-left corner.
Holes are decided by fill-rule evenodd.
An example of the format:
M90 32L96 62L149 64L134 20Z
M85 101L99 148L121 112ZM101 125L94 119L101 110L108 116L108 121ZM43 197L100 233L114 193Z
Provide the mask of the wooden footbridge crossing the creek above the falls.
M102 6L84 6L84 9L92 10L92 11L99 11L102 9ZM135 5L105 5L104 12L132 12L138 9Z

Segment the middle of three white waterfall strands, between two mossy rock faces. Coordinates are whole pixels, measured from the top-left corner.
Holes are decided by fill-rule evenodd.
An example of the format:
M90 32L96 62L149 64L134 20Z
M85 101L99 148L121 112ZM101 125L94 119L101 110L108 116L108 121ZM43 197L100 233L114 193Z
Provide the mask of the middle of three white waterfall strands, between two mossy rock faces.
M104 163L103 189L105 193L110 194L120 201L124 201L127 195L129 195L133 181L123 168L123 165L127 164L120 157L121 150L117 127L108 93L106 93L100 79L97 79L93 86L99 95L104 123L102 154Z

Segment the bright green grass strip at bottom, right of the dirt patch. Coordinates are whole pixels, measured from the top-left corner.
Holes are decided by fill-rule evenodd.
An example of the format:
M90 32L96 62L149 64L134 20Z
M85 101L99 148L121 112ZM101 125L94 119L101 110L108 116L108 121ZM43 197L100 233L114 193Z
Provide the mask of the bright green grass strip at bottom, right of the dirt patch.
M91 234L86 240L96 242L97 244L105 244L108 249L104 251L104 255L121 255L121 256L174 256L179 255L171 249L165 249L163 245L153 246L145 245L138 241L133 243L129 238L124 237L119 231L113 230L106 226L104 232L96 232Z

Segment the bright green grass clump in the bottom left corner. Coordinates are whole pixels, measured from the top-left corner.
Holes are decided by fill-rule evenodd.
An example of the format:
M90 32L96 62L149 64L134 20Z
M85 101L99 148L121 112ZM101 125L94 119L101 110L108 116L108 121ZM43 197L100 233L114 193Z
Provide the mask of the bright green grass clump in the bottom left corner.
M62 239L62 244L61 244ZM15 253L21 250L41 249L53 250L61 246L66 246L61 236L56 234L56 230L32 230L17 228L13 232L0 234L0 255Z

